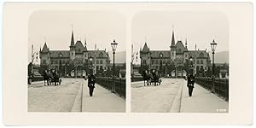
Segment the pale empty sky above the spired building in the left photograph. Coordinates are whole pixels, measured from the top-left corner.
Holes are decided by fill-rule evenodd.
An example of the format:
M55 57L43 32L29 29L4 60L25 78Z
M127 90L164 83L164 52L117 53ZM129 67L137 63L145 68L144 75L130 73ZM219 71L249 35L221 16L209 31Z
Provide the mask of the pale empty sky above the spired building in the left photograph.
M69 49L72 30L75 42L86 37L87 49L112 51L113 39L117 52L125 51L126 22L124 15L113 11L38 11L28 22L28 61L34 51L43 49L46 41L50 50ZM38 63L38 62L36 62Z

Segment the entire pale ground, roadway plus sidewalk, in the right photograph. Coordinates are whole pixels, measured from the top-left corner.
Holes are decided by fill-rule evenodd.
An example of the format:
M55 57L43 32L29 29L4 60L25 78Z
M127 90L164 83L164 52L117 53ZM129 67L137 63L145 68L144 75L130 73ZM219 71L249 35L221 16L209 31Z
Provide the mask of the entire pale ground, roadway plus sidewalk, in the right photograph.
M229 102L195 84L189 97L187 81L163 79L160 86L131 84L131 112L137 113L227 113Z

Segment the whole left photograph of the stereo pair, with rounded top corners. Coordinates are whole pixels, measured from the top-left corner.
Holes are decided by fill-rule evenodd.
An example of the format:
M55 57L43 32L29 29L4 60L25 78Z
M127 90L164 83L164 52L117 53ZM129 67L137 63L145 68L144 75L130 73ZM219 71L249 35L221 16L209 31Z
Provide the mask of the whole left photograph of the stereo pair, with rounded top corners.
M28 112L125 113L123 15L37 11L28 27Z

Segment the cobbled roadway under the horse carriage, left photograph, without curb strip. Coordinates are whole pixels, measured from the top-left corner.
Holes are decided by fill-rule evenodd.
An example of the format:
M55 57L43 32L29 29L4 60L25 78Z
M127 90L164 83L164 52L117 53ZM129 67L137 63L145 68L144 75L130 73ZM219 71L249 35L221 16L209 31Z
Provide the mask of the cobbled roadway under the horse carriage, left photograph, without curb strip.
M61 85L28 86L28 112L71 112L83 79L62 79Z

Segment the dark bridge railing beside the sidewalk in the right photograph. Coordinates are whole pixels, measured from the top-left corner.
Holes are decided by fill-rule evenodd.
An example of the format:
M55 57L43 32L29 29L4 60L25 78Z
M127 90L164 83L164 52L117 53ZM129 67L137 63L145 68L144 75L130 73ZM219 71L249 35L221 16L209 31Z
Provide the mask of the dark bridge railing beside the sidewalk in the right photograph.
M200 84L207 90L212 90L212 78L195 77L195 83ZM229 101L229 79L218 79L214 80L214 92L218 96L222 96L226 101Z

